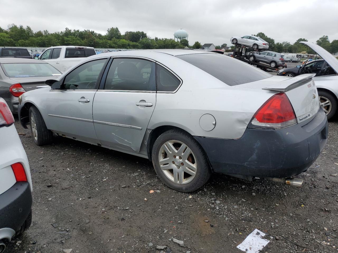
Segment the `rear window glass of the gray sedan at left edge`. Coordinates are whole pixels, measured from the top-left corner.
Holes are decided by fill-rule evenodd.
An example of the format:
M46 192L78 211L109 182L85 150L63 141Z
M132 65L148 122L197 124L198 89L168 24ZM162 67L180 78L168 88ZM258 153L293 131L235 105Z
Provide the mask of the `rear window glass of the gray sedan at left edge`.
M61 76L61 72L48 63L3 63L0 65L7 77Z

